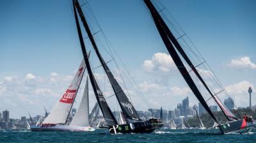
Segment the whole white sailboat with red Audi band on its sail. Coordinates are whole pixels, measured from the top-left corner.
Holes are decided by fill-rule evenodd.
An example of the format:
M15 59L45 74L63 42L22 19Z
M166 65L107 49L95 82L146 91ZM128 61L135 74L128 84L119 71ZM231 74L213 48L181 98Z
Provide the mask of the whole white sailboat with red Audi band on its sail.
M77 113L70 125L67 124L68 116L70 115L74 100L76 99L77 90L79 89L81 80L83 79L84 70L85 63L83 60L70 86L68 86L68 89L61 96L59 102L51 110L51 114L45 118L42 124L40 124L39 119L36 125L31 125L31 131L87 132L95 130L89 126L88 119L88 79L86 80L86 85L84 87L84 93L79 105L79 109L77 110Z

